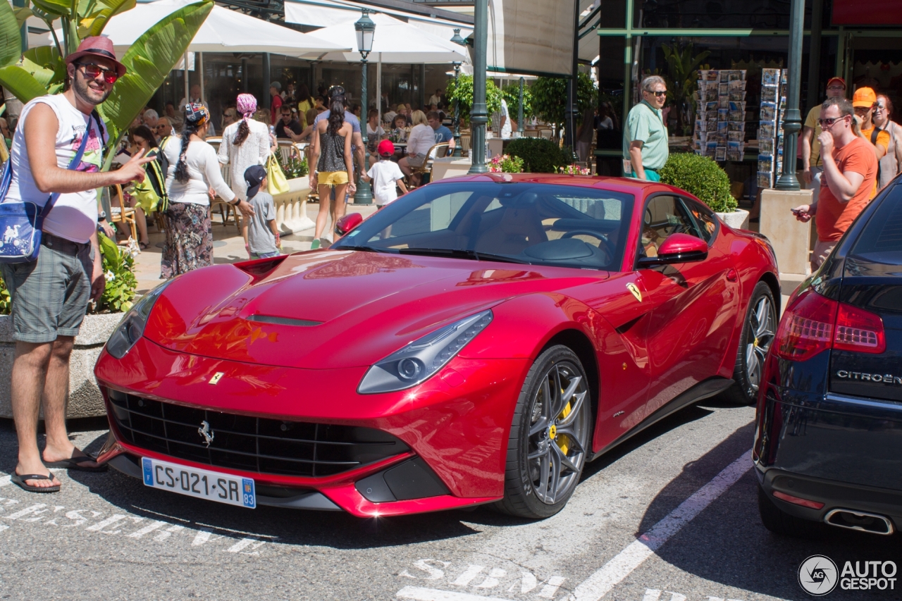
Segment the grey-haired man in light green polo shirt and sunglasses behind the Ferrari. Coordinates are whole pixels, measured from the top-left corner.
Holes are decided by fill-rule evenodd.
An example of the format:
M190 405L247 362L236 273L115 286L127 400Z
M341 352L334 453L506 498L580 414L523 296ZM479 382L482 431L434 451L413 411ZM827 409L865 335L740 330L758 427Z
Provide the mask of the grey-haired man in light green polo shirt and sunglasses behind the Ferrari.
M642 79L642 101L630 109L623 128L623 167L640 180L660 181L658 171L667 162L667 127L661 108L667 102L667 84L657 75ZM630 169L626 169L629 166Z

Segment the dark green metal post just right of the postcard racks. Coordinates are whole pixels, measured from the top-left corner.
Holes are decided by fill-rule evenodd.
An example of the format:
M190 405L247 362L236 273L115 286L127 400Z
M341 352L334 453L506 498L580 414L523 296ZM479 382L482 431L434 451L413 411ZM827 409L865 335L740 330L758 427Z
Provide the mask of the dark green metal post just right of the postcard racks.
M783 119L783 172L774 186L776 190L801 190L796 178L796 148L802 130L802 113L798 109L802 85L802 27L805 23L805 0L792 0L789 8L789 80L787 112ZM814 56L814 55L812 55Z

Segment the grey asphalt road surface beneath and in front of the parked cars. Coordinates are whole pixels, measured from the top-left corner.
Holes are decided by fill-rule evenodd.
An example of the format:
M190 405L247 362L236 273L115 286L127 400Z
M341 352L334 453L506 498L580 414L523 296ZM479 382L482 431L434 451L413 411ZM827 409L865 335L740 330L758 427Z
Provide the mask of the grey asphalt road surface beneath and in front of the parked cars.
M900 537L830 529L778 538L759 522L754 410L709 400L587 467L566 509L524 522L488 507L360 520L248 510L145 488L110 470L60 472L25 493L11 421L0 421L0 598L752 601L807 599L803 560L893 559ZM97 451L105 421L73 437ZM842 591L828 599L900 599Z

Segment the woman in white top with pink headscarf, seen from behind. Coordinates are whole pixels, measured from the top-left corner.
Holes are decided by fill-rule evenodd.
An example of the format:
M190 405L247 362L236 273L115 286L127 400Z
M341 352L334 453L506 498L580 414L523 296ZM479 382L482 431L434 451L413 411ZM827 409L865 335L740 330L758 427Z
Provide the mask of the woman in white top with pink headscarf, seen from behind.
M266 124L253 120L257 111L257 99L250 94L239 94L236 103L241 120L228 125L219 144L219 162L229 165L232 191L239 199L247 199L244 171L251 165L265 165L270 155L270 130Z

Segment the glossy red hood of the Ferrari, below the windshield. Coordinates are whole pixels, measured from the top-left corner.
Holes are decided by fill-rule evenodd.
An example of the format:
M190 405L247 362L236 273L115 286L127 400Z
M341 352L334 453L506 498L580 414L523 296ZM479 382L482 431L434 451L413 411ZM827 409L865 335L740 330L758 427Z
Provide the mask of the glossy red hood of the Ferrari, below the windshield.
M272 264L216 265L180 276L161 294L144 336L190 355L262 365L372 365L441 325L513 297L608 277L565 267L335 250Z

